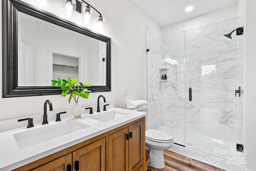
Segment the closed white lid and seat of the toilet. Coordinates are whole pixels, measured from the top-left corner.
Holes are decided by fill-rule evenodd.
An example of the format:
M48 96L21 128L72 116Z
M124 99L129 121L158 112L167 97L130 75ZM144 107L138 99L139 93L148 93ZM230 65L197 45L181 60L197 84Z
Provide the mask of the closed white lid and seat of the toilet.
M165 133L163 131L148 129L146 130L146 139L156 140L156 141L170 141L173 139L172 135Z

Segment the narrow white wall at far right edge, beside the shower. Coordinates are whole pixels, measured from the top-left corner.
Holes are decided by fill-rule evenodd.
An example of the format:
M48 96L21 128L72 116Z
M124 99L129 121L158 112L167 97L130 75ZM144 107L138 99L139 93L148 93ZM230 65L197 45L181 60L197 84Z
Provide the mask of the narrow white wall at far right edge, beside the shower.
M246 20L245 20L245 74L244 74L244 129L245 129L245 149L246 153L246 170L255 171L256 162L256 1L246 0Z

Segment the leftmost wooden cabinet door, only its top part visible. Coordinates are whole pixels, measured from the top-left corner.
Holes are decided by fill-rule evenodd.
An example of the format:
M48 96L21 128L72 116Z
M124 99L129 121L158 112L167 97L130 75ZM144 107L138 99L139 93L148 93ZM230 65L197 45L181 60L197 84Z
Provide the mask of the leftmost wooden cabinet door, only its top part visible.
M42 165L32 171L71 171L72 153L64 155L50 163ZM69 168L69 169L68 169Z

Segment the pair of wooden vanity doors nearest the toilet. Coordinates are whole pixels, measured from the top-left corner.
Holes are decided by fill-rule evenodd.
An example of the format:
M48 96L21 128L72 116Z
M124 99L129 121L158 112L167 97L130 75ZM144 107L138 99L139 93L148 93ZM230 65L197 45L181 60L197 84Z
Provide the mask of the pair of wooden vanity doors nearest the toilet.
M107 137L107 171L137 171L143 164L143 121Z

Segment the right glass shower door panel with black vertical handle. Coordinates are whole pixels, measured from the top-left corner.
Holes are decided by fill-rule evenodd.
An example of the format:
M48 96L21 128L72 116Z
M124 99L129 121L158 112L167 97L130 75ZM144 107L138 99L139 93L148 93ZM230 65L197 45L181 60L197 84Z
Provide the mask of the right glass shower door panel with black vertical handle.
M242 159L241 18L186 31L185 145L232 161Z

